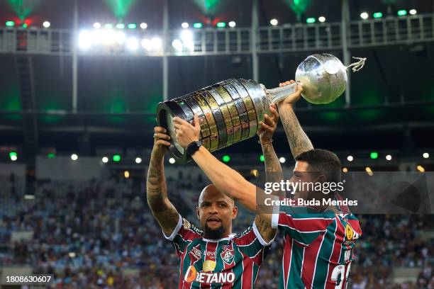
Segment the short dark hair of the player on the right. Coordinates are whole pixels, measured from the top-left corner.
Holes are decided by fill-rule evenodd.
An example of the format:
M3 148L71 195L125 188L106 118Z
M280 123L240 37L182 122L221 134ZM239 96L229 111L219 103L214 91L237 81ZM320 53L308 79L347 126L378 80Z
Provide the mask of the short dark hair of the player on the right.
M309 164L309 171L316 171L325 176L327 181L340 182L340 160L337 155L326 149L311 149L302 152L296 158L296 161L304 161Z

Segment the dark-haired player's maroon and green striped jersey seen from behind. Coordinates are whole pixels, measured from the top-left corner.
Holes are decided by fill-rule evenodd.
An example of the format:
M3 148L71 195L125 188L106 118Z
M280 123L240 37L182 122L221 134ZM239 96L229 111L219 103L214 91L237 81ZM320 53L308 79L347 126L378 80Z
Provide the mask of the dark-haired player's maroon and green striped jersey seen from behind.
M281 205L279 214L272 216L272 227L284 231L279 288L346 288L355 240L362 234L349 210L335 214Z

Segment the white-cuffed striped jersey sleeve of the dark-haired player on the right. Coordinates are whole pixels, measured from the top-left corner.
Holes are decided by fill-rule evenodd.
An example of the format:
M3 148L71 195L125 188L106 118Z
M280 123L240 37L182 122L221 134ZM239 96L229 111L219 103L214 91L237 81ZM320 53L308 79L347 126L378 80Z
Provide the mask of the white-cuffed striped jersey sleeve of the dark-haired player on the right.
M279 212L272 215L272 227L282 229L301 246L311 244L333 221L334 214L289 205L281 205Z

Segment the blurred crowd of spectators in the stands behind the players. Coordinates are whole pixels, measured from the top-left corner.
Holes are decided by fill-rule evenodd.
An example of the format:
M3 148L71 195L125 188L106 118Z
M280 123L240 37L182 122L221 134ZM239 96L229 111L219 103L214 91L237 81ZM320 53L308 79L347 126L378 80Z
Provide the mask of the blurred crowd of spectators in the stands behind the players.
M3 178L0 188L0 266L32 266L55 276L55 288L177 288L177 256L145 200L145 183L112 176L91 181L35 181L24 196L21 181ZM168 178L169 198L196 223L194 208L206 181ZM348 288L434 289L432 215L359 215ZM240 208L234 232L252 224ZM17 233L18 232L18 233ZM31 232L19 239L19 232ZM278 235L257 278L257 288L277 288L282 259ZM420 268L415 280L394 283L393 268Z

